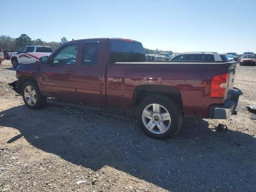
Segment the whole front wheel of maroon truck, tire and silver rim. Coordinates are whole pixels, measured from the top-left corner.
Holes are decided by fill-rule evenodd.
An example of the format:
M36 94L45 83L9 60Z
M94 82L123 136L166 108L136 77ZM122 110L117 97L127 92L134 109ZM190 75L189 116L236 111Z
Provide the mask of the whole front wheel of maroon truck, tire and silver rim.
M41 94L37 84L32 81L23 84L22 98L30 109L40 109L46 105L46 98Z

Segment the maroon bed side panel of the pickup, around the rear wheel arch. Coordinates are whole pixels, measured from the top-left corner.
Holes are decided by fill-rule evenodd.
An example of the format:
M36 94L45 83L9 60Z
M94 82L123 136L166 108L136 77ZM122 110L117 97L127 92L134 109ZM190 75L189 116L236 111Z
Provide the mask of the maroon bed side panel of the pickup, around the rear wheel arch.
M209 97L211 79L226 72L227 65L221 63L109 63L108 104L133 108L137 86L165 85L180 90L185 117L208 118L211 104L224 103L224 98Z

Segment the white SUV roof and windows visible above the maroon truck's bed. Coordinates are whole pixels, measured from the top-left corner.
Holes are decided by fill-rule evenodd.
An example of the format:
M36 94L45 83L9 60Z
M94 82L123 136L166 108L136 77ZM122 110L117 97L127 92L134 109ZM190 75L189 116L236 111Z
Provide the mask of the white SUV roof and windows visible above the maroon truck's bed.
M217 52L186 52L180 53L170 61L229 61L226 54Z

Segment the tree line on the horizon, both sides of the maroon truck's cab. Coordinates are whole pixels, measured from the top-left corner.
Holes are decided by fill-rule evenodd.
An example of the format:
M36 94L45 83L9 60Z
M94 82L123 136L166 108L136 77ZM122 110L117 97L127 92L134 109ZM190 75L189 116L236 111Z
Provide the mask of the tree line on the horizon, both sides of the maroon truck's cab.
M1 35L0 36L0 47L2 49L10 50L11 52L19 51L24 46L30 45L40 45L40 46L50 46L53 50L55 50L61 44L68 42L66 37L62 37L60 42L46 42L41 39L32 40L28 35L21 34L18 38L11 38L10 36ZM163 50L152 50L144 48L146 54L159 54L160 52L168 52L172 54L172 51L163 51Z

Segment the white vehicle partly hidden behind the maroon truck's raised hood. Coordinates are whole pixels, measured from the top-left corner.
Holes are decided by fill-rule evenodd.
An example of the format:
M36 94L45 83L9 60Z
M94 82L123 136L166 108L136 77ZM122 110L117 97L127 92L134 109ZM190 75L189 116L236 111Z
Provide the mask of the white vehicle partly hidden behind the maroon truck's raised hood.
M52 48L48 46L25 46L18 52L13 52L11 55L11 62L14 68L19 64L34 63L36 59L29 57L27 54L30 52L51 53Z

